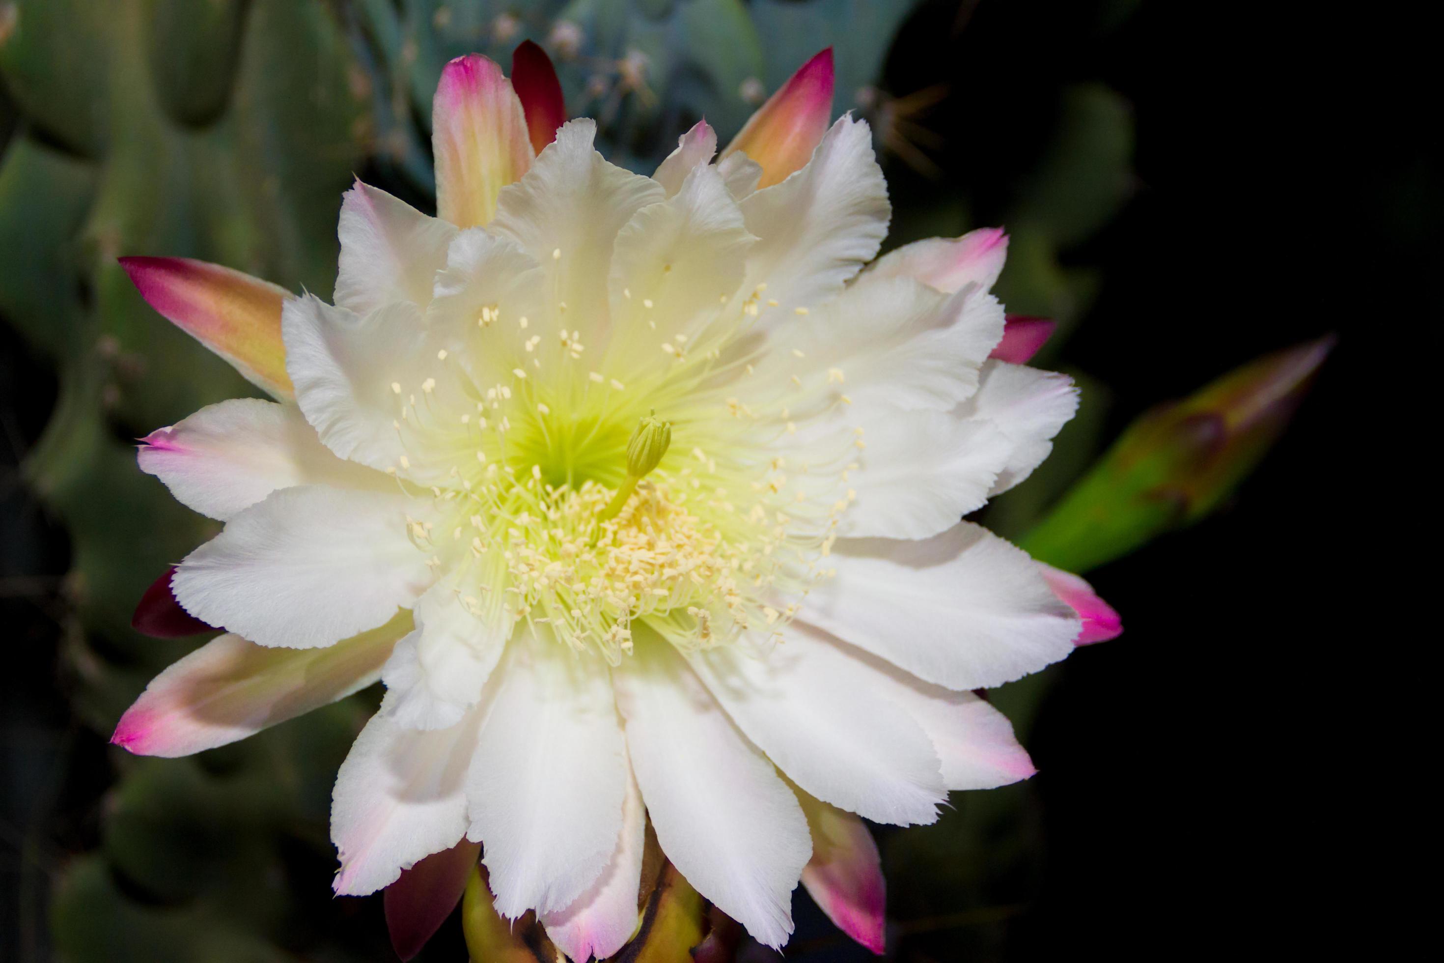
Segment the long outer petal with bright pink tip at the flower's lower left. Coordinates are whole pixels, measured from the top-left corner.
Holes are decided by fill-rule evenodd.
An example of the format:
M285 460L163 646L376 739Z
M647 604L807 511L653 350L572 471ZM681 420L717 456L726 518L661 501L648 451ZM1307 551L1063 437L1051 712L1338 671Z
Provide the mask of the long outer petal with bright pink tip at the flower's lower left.
M173 758L244 739L374 683L409 625L400 615L329 648L266 648L219 635L156 676L110 741Z

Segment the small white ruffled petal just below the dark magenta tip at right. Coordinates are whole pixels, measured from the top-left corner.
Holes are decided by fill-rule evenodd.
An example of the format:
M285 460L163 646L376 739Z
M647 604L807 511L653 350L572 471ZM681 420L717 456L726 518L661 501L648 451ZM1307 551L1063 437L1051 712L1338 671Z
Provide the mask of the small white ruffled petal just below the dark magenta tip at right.
M1053 450L1053 437L1079 407L1073 378L1021 364L989 361L978 391L959 414L993 424L1008 439L1008 462L989 495L1008 491L1032 474Z

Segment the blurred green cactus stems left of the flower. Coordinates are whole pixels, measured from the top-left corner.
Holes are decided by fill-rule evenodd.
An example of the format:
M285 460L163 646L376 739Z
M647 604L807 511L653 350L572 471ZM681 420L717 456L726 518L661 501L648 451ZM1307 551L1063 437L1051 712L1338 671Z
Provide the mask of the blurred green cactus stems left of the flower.
M188 254L329 292L370 104L332 10L295 0L7 0L0 77L17 114L0 315L59 380L23 475L71 536L64 658L75 710L108 733L191 647L139 637L136 599L215 530L136 471L127 439L250 391L156 318L116 257ZM286 840L325 866L331 772L362 718L335 706L206 761L116 754L101 849L56 884L58 954L292 959L277 940L299 897L276 868Z

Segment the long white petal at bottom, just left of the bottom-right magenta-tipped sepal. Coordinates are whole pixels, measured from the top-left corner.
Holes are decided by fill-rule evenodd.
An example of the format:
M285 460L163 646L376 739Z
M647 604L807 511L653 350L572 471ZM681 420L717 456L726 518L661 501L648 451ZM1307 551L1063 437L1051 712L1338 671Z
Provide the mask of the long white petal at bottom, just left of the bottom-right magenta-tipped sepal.
M812 855L797 797L671 645L643 637L615 670L637 785L657 842L697 892L780 947Z

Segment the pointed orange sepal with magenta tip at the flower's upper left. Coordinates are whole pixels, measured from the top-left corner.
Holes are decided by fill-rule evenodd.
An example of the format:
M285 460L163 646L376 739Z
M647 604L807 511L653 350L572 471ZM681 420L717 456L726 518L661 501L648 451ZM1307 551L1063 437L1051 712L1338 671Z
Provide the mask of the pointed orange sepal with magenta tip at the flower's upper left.
M225 358L271 397L292 397L280 336L284 287L188 257L123 257L131 283L160 315Z

